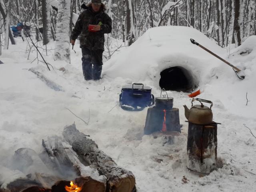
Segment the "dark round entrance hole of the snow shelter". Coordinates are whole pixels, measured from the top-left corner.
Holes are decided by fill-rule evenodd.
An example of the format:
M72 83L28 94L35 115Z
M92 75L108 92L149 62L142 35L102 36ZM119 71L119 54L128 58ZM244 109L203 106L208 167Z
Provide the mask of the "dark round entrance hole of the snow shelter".
M180 66L167 68L160 73L160 76L161 89L190 92L198 87L191 72Z

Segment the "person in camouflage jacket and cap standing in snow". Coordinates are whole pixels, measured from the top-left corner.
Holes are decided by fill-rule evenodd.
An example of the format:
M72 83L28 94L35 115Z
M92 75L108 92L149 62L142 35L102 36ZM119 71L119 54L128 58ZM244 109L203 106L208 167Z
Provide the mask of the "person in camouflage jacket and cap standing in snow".
M92 0L82 12L71 34L71 44L74 45L80 35L82 48L82 69L85 80L99 80L102 71L102 54L104 51L104 34L112 30L112 20L105 13L106 6L101 0ZM92 29L89 30L89 25Z

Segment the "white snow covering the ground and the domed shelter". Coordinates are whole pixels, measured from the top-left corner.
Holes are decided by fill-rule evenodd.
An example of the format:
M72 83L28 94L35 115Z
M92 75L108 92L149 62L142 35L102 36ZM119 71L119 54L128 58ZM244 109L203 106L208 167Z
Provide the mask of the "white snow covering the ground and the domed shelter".
M191 44L190 38L240 66L246 78L239 80L230 66ZM78 44L74 46L76 53L71 50L71 64L54 61L49 51L45 58L54 70L48 71L42 62L32 62L36 52L27 60L27 43L17 42L2 50L0 57L4 62L0 64L0 184L24 176L12 164L15 150L26 147L40 154L44 151L42 139L62 136L64 126L75 121L78 130L89 134L100 150L133 172L138 192L255 191L256 36L238 48L222 49L192 28L152 28L132 46L115 52L103 66L102 79L96 82L83 80ZM51 47L53 43L47 46ZM174 144L168 144L164 137L144 135L147 108L128 112L118 106L122 86L132 82L144 83L152 87L152 94L160 96L160 72L170 66L182 66L198 78L202 91L198 97L212 100L214 121L222 123L218 125L218 159L224 166L209 175L186 168L188 123L183 105L191 102L187 93L168 91L174 107L180 110L182 124L182 134ZM28 71L32 67L64 91L49 88ZM66 71L58 70L60 67ZM89 124L66 108L84 120L90 114ZM8 175L10 170L14 174Z

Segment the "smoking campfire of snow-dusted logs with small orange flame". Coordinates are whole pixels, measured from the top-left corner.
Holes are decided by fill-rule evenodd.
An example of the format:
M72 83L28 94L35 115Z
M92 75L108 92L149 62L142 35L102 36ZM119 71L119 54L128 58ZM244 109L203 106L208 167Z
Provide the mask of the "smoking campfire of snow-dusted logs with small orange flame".
M42 140L48 160L30 148L16 150L23 178L0 186L6 188L0 192L136 192L132 172L119 167L75 124L66 126L62 134L65 140L58 136ZM64 142L72 147L64 147ZM17 174L6 170L8 175Z

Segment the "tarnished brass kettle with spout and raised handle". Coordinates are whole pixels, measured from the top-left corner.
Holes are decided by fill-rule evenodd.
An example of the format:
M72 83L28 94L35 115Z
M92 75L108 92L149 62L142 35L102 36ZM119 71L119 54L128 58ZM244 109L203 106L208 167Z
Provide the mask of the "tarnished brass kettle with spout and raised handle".
M199 101L201 105L193 106L194 101ZM210 108L208 108L207 106L204 106L202 102L210 103L211 104ZM184 105L185 117L188 119L189 122L192 122L194 124L200 124L200 125L212 123L212 102L211 101L199 99L199 98L193 98L191 103L192 103L191 109L188 109L188 107Z

